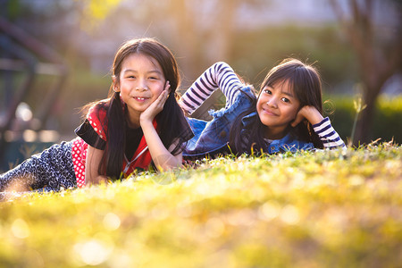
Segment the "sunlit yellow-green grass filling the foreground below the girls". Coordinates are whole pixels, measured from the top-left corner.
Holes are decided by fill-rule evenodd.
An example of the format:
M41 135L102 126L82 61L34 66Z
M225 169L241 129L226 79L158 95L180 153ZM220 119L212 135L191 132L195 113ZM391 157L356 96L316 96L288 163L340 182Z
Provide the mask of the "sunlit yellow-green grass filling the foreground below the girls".
M218 158L0 204L4 267L396 267L402 147Z

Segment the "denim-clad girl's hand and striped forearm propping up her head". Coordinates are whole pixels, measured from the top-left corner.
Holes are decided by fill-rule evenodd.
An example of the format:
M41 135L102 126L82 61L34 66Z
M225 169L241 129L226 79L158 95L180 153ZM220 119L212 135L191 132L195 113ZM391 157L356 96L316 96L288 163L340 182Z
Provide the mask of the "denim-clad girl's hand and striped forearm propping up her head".
M306 105L302 107L291 125L295 127L303 119L313 125L314 132L320 137L325 148L346 148L342 138L333 129L330 119L328 117L323 118L322 114L314 106Z

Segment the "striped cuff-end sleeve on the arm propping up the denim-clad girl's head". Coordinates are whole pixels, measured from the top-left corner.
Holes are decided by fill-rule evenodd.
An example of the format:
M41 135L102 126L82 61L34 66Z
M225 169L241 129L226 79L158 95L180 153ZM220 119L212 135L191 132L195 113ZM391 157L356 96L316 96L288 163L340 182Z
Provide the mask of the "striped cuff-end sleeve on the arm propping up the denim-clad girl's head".
M328 117L325 117L318 124L314 124L313 129L322 140L324 148L346 148L342 138L340 138L337 131L332 128L331 121Z

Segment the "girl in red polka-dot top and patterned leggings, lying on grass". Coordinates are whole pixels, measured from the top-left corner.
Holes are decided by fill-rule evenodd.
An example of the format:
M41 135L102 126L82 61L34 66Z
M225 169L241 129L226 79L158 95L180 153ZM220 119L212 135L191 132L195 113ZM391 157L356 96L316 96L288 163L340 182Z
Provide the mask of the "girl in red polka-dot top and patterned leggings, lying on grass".
M176 101L180 73L172 52L153 38L130 40L115 54L112 79L109 97L87 106L78 138L0 175L0 190L83 187L152 165L180 167L193 133Z

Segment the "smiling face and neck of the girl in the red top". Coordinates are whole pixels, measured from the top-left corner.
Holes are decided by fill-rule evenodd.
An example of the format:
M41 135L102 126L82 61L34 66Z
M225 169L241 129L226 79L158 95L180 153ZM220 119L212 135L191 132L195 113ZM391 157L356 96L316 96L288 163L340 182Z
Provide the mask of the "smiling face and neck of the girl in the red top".
M162 93L166 80L159 63L144 54L130 54L121 63L120 82L114 80L114 91L120 91L128 107L130 127L139 126L139 115Z

